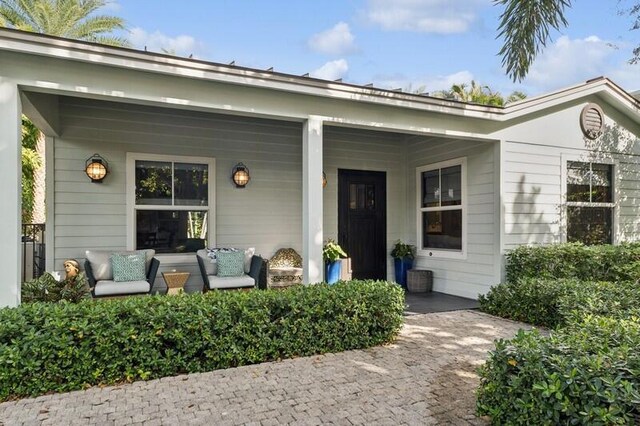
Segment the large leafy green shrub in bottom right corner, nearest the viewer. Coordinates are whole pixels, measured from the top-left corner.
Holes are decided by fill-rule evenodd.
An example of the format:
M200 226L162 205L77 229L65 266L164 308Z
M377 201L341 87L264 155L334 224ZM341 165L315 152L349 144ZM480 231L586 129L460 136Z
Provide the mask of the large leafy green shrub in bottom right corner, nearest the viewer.
M543 337L499 340L480 369L478 412L495 424L636 424L640 321L587 316Z

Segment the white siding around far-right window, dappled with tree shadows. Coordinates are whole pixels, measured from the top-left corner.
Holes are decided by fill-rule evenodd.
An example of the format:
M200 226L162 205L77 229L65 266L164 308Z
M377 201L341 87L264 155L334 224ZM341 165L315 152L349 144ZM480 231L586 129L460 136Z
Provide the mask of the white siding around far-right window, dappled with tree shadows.
M626 151L615 151L619 144L603 145L577 139L574 146L549 146L506 142L503 186L505 236L503 246L548 244L562 240L564 158L581 161L602 159L616 163L617 240L638 239L640 229L640 144L622 144ZM567 157L569 156L569 157ZM604 160L603 160L604 161Z

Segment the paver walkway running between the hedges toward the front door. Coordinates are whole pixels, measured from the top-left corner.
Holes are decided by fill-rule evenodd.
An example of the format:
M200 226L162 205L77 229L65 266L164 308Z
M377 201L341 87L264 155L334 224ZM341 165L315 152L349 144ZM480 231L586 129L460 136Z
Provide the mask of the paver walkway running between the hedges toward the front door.
M19 424L485 424L475 369L523 324L474 311L405 318L393 345L0 404Z

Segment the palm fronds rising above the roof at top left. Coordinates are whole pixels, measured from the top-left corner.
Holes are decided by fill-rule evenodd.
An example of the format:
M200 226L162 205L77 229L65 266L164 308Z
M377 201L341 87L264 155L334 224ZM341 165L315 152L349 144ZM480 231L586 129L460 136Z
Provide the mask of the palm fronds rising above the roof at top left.
M97 15L107 0L0 0L0 25L22 31L128 46L112 33L126 30L122 18Z

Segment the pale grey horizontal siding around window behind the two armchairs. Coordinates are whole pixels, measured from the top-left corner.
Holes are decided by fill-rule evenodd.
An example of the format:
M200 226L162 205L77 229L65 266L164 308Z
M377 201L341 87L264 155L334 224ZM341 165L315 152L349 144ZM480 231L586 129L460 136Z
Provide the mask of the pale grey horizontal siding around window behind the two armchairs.
M302 126L299 123L60 98L61 137L55 142L55 259L84 258L85 250L126 249L126 153L216 159L216 243L256 247L268 258L302 246ZM98 152L109 162L102 184L84 173ZM231 169L251 172L236 189ZM202 288L195 255L190 264L164 257L161 271L191 272L189 290ZM164 285L161 275L158 285Z

